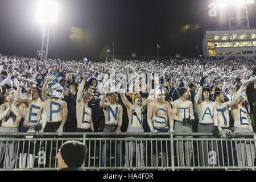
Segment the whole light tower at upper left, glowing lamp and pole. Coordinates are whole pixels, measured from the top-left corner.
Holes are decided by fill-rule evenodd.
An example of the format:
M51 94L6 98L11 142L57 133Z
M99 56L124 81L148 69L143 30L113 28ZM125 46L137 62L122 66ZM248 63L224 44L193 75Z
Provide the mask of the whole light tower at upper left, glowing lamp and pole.
M39 0L36 8L36 20L43 27L43 36L42 36L42 46L40 60L43 60L43 52L45 52L45 60L48 57L48 47L49 47L49 31L51 23L57 22L59 6L56 2L52 0Z

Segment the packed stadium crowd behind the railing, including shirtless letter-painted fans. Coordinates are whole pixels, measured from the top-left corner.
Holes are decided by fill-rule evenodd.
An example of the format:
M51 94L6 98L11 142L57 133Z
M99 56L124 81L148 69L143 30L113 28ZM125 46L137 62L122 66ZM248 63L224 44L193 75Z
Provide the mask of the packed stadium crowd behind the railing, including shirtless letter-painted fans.
M199 132L226 139L232 138L233 133L253 133L256 131L255 60L256 57L184 57L83 63L0 55L0 133L40 131L57 132L61 136L63 132L75 131L114 132L118 137L121 131ZM156 144L158 147L154 147ZM184 144L185 161L180 158L180 166L189 166L192 144ZM180 156L181 145L176 143ZM254 166L254 147L247 143L240 145L236 150L238 166ZM156 159L159 146L153 142L154 166L159 162ZM199 145L201 166L208 166L205 146L207 142ZM217 144L209 151L217 150L214 146ZM110 143L102 143L102 166L107 166L109 147ZM143 142L127 142L127 167L132 166L134 151L138 166L144 166L144 147ZM24 168L26 162L22 159L26 159L31 148L26 144L3 143L0 160L7 152L5 166L14 168L18 151L19 167ZM121 160L118 148L116 166ZM163 158L165 155L162 152Z

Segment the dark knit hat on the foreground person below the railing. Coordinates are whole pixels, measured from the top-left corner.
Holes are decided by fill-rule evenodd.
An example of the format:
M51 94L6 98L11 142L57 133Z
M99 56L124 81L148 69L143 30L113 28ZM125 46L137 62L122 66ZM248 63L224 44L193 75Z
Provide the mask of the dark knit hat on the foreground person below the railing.
M87 155L87 148L85 144L71 140L63 143L60 154L68 167L81 167Z

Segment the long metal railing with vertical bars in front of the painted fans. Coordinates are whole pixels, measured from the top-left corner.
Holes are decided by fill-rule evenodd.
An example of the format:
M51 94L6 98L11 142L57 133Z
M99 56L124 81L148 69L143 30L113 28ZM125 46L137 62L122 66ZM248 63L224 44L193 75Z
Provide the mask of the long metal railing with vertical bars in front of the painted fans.
M29 135L34 138L24 138ZM67 140L86 144L86 170L254 170L255 133L230 140L209 137L211 133L0 133L0 170L56 170L55 156Z

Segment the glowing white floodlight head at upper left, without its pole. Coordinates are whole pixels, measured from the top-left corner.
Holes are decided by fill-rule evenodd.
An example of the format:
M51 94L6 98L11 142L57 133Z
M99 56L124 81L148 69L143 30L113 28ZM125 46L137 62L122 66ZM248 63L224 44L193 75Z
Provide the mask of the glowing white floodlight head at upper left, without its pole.
M58 11L59 6L56 2L52 0L39 0L36 9L36 20L43 24L55 23L57 22Z

